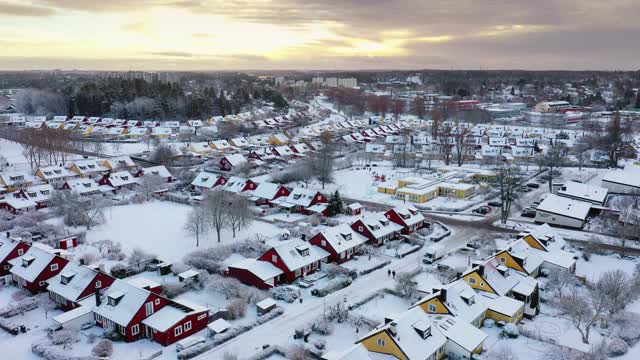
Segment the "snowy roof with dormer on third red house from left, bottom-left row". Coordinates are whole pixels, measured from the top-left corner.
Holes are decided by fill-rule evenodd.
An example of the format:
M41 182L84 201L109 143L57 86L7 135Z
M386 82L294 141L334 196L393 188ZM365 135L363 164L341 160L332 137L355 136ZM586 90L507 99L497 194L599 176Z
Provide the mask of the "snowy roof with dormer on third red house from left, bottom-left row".
M80 300L80 295L92 285L98 273L84 265L70 261L62 272L47 281L47 291L54 292L67 300Z

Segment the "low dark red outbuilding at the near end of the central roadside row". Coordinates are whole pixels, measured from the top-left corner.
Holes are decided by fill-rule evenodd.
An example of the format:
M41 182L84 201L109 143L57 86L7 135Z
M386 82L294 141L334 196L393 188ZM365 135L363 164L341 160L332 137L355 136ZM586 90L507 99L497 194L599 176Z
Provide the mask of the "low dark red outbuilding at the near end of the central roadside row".
M263 290L278 286L283 273L272 263L256 259L244 259L227 268L227 276Z

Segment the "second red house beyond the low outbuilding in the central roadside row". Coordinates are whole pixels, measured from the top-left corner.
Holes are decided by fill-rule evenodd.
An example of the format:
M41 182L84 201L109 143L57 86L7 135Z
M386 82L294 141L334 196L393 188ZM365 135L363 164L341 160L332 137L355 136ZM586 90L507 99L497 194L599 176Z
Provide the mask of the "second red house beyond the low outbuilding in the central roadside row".
M343 263L351 260L367 240L364 235L353 231L348 225L341 224L322 230L309 239L309 243L328 252L330 262Z

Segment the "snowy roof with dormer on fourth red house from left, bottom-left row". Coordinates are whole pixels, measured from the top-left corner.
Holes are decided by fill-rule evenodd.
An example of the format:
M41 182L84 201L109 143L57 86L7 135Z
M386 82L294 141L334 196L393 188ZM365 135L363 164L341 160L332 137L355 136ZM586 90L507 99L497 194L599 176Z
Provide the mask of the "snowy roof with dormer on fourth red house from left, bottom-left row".
M135 314L144 306L151 293L137 288L126 281L116 279L106 291L100 306L94 312L118 325L127 326ZM116 300L110 304L109 298Z

